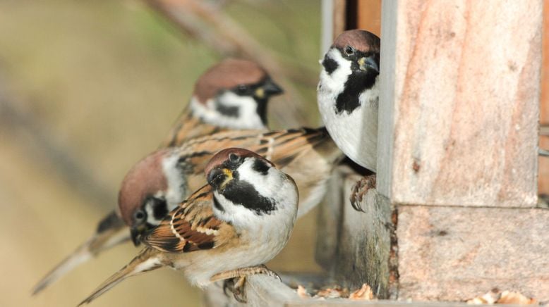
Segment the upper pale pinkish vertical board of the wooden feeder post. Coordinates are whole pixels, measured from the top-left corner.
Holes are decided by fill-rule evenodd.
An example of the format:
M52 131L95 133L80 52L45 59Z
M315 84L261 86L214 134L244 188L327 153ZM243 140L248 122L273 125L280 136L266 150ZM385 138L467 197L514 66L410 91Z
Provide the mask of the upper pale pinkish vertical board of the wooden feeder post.
M536 206L543 1L382 6L380 192Z

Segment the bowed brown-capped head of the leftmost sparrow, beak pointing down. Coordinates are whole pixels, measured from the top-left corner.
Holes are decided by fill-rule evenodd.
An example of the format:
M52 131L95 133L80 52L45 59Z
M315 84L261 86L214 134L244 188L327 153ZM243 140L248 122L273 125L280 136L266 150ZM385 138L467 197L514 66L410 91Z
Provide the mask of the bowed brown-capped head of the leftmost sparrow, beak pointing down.
M140 243L140 234L158 225L183 200L183 176L171 152L162 149L143 158L121 184L119 213L135 245Z

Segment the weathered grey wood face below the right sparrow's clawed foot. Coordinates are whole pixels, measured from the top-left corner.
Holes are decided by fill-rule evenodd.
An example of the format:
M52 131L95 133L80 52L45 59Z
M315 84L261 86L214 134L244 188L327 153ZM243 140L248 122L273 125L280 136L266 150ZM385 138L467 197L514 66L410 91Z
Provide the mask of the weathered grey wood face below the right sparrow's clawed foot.
M327 227L318 227L316 259L336 284L353 289L366 283L382 299L396 297L396 286L390 284L392 208L371 189L361 202L366 212L355 211L349 196L360 179L344 166L334 174L318 215L319 225Z

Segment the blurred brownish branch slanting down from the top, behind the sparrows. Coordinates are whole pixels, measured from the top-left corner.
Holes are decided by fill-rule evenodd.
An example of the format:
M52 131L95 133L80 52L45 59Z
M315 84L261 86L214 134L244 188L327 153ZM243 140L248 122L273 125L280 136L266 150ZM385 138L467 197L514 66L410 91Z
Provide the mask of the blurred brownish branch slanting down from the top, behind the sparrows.
M222 56L248 58L269 71L289 95L284 104L273 104L275 118L286 126L303 125L306 113L301 95L288 79L316 86L315 72L281 63L269 49L261 46L240 25L215 6L195 0L145 0L151 8L174 23L179 30L212 47Z

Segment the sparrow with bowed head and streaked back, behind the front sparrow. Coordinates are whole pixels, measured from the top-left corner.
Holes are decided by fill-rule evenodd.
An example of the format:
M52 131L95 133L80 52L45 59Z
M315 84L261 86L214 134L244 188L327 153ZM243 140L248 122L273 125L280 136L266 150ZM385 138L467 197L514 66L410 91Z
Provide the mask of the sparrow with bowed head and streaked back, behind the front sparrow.
M205 184L202 173L207 161L229 147L254 151L296 180L298 217L320 203L334 166L343 158L323 129L219 132L156 151L128 173L120 189L119 213L135 244L141 234L159 225L178 199Z

